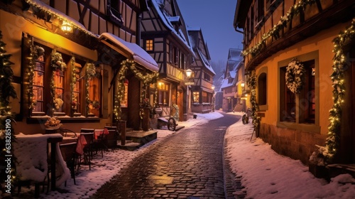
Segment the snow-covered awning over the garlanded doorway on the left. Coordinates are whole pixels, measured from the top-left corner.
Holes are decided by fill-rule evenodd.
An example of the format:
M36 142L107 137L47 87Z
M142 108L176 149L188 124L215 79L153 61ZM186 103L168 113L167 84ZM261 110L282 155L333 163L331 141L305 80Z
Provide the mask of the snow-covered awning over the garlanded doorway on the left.
M158 72L159 68L155 60L146 52L146 50L143 50L143 48L136 43L124 41L111 33L102 33L99 36L99 41L116 50L121 55L124 55L126 58L142 65L144 68L153 72Z

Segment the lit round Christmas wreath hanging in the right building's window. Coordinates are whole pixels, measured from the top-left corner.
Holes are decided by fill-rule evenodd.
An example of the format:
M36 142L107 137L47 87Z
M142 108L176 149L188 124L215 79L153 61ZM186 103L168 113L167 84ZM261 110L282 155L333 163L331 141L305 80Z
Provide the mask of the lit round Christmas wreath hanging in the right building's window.
M286 68L286 85L293 93L300 93L305 83L305 67L299 60L293 59Z

